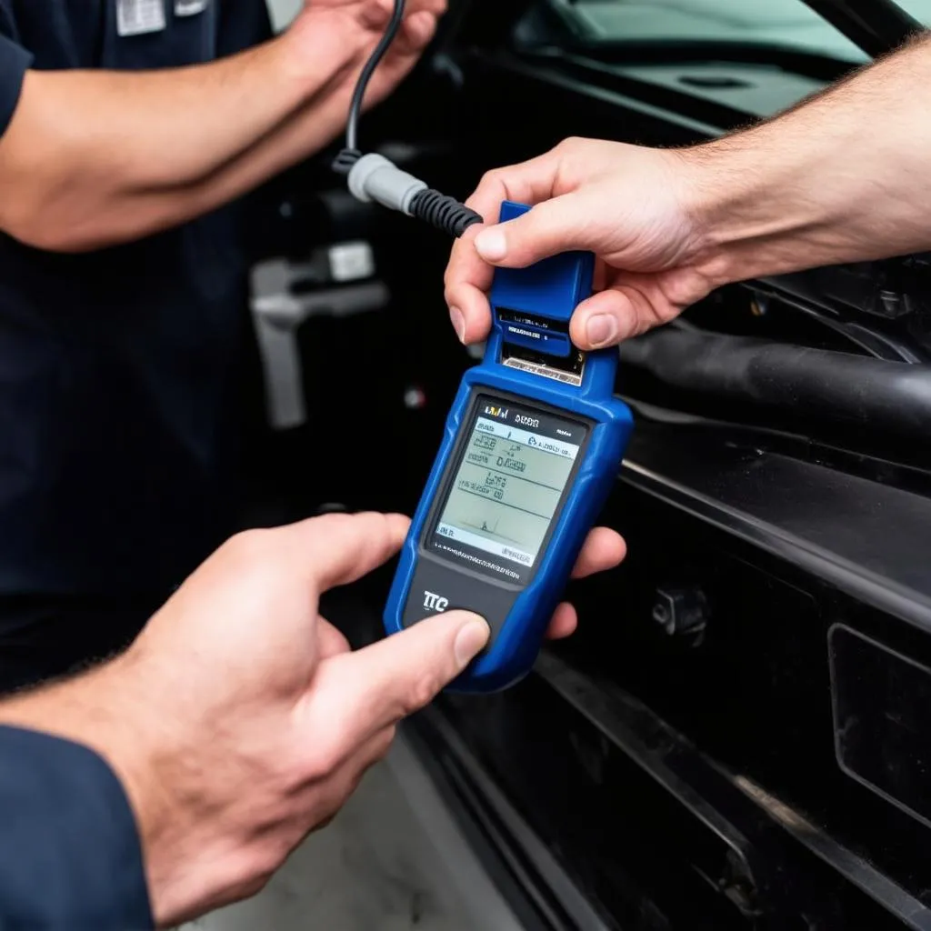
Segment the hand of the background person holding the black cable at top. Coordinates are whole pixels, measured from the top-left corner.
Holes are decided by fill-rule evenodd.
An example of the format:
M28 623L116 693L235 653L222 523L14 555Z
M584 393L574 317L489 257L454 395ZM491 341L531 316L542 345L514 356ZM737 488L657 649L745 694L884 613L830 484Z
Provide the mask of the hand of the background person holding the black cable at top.
M372 75L366 107L384 100L411 71L436 33L446 6L447 0L407 0L398 38ZM304 11L291 30L300 34L331 29L332 16L338 17L333 41L356 50L355 66L344 75L348 89L355 85L359 70L385 34L393 9L394 0L305 0Z

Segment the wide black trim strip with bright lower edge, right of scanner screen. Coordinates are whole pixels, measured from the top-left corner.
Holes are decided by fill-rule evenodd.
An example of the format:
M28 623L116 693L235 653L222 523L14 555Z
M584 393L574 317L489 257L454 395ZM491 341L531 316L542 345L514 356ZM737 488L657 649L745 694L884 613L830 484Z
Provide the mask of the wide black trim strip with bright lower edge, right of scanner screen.
M931 501L921 495L643 422L620 478L931 633Z

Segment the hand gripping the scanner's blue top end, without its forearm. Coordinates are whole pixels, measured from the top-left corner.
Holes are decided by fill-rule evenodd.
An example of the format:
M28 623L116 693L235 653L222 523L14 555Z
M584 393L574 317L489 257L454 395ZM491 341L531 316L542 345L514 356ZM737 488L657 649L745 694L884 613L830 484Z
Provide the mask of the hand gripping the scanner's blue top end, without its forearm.
M503 200L536 205L510 223L475 226L452 249L446 301L464 343L491 326L492 265L523 267L557 252L600 257L579 305L573 343L595 349L665 323L717 282L695 228L688 156L620 142L570 139L546 155L490 171L466 203L495 223Z

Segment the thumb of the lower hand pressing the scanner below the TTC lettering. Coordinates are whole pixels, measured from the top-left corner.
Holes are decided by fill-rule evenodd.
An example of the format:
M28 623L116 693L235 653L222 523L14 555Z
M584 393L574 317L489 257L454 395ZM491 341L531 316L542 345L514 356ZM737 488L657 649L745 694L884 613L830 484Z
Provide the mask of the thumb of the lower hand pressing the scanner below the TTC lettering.
M340 731L354 742L424 708L479 654L491 636L478 614L436 614L353 654L320 664L313 690L340 693Z

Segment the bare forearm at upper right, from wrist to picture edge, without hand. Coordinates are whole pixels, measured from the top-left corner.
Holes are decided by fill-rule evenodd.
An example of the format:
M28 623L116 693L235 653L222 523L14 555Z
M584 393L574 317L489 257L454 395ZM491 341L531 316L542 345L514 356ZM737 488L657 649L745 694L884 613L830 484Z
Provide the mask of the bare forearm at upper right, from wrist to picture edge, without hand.
M711 277L931 248L931 41L760 127L687 150Z

